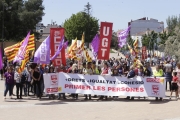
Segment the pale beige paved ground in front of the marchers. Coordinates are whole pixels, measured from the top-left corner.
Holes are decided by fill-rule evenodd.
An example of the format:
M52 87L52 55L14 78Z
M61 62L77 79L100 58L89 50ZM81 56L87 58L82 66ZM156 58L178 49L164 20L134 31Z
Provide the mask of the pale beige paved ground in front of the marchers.
M168 97L164 101L155 98L135 98L134 101L120 97L114 101L85 101L80 95L79 100L41 100L30 96L22 100L8 98L3 100L4 81L0 81L0 120L179 120L180 100ZM14 88L15 93L15 88ZM169 96L169 92L166 93Z

